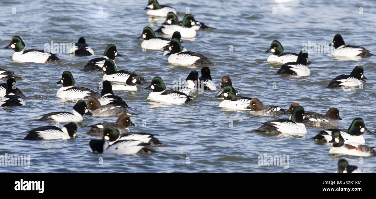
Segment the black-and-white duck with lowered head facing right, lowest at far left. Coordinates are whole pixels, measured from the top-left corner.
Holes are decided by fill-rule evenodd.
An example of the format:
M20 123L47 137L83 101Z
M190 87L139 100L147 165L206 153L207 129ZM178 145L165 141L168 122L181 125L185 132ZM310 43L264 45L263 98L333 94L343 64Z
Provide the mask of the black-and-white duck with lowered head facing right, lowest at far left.
M24 140L55 140L76 138L77 124L70 122L61 129L57 126L42 126L29 130Z

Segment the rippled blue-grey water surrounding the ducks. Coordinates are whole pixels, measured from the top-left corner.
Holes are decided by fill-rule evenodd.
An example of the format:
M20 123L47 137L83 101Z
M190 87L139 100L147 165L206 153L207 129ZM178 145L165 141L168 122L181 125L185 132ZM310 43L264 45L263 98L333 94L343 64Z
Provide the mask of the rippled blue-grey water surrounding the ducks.
M302 43L331 42L340 33L345 42L363 46L376 53L375 1L188 1L161 0L178 10L179 19L186 7L198 21L215 30L199 31L196 40L185 40L190 51L202 53L215 65L209 67L215 84L223 75L229 75L234 87L244 96L258 97L266 105L288 108L298 102L308 111L325 113L330 107L340 110L341 128L347 129L356 117L365 120L374 130L375 57L359 61L340 61L326 54L309 54L311 75L305 78L275 75L278 65L267 63L270 54L264 53L272 40L279 40L287 52L299 52ZM64 70L73 73L76 85L97 88L102 81L98 72L80 69L91 58L101 57L108 43L115 43L123 57L117 57L118 68L135 71L149 80L161 76L171 87L174 80L185 79L192 68L170 66L160 52L143 52L141 40L136 38L143 27L154 30L160 22L148 22L139 1L2 1L0 3L0 43L4 47L12 36L19 35L26 49L44 49L44 43L77 42L80 36L96 53L94 57L69 57L52 64L13 63L10 49L0 49L0 68L22 76L18 88L30 97L26 107L1 108L0 154L30 155L30 168L1 166L0 172L334 172L338 156L328 154L330 146L312 141L318 129L308 127L304 136L266 136L251 132L261 123L283 117L252 117L247 111L224 111L218 107L221 100L214 93L199 94L189 104L163 105L146 100L150 90L140 86L136 92L118 91L127 101L131 117L137 127L134 132L159 134L158 139L169 147L156 147L151 155L114 156L93 154L90 139L84 133L89 125L102 121L116 121L116 117L93 118L84 116L79 123L77 138L68 141L23 141L27 130L49 125L39 119L52 111L71 111L75 100L56 97L61 86L55 82ZM12 8L16 14L12 14ZM359 7L363 14L359 14ZM103 13L99 14L100 8ZM276 8L276 9L274 9ZM273 9L276 14L273 14ZM233 52L229 51L233 46ZM349 74L353 67L364 67L368 78L364 89L331 90L324 88L340 74ZM195 68L200 70L200 68ZM0 80L1 83L5 82ZM273 82L276 88L273 89ZM219 86L217 86L219 88ZM143 127L146 121L146 127ZM233 126L229 123L233 121ZM376 146L375 135L364 135L366 144ZM288 155L289 168L258 166L258 156ZM103 164L99 164L99 158ZM189 163L186 158L189 157ZM376 159L344 156L351 165L375 172Z

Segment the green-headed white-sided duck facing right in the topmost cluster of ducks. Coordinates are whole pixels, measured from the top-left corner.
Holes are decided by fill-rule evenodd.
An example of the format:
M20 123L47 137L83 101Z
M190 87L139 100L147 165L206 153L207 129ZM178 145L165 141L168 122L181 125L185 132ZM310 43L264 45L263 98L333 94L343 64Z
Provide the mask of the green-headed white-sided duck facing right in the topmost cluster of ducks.
M183 38L196 37L196 29L194 25L196 21L193 15L187 14L184 16L183 21L179 24L162 25L155 32L160 34L172 35L175 31L179 31Z

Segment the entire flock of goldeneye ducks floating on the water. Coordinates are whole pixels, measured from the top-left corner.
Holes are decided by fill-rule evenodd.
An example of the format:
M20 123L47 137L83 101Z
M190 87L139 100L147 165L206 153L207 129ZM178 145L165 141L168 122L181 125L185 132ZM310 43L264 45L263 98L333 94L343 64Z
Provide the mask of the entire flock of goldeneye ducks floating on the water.
M170 6L160 5L156 0L149 0L146 7L147 14L158 17L165 17L165 22L156 31L150 27L143 28L139 39L143 39L141 48L163 51L168 55L168 62L174 65L197 66L210 64L209 58L196 52L188 51L182 46L182 38L192 38L196 36L198 30L211 29L203 22L196 21L191 14L186 14L182 21L176 16L176 10ZM157 37L155 33L171 36L171 39ZM334 36L333 43L335 49L333 56L337 57L369 57L373 56L370 51L359 47L345 45L341 35ZM42 50L25 50L25 44L21 37L12 37L11 43L5 48L13 49L15 52L12 59L17 62L50 63L59 60L56 54L44 52ZM309 76L310 70L307 64L308 52L300 51L299 54L284 52L280 42L274 40L270 48L265 51L271 53L267 61L274 64L282 64L277 71L279 74L289 74L293 76ZM70 49L71 56L90 56L94 51L86 44L83 37ZM56 126L42 126L27 132L24 139L30 140L51 140L70 139L76 137L77 124L83 120L83 115L96 117L119 116L115 123L94 124L87 132L89 135L102 136L102 139L93 139L89 142L93 152L110 154L136 154L153 153L153 146L163 146L156 135L151 133L130 132L129 126L136 126L132 123L127 111L127 103L123 98L114 94L114 90L134 91L138 85L148 83L143 76L126 70L118 70L115 64L115 57L121 56L117 52L114 44L109 44L103 57L94 58L88 61L83 67L83 71L96 70L103 72L103 82L97 93L89 88L75 86L73 75L69 71L64 71L61 79L56 82L62 87L56 96L64 99L80 99L73 106L72 112L51 112L42 115L40 120L67 123L61 129ZM16 86L13 78L14 73L0 69L0 78L7 79L6 84L0 84L0 106L26 106L23 98L25 96ZM332 79L328 86L334 87L358 87L365 82L362 66L356 66L350 75L339 75ZM235 90L229 76L225 75L219 84L221 89L215 97L223 98L219 107L237 111L249 110L255 116L280 116L290 115L289 119L271 120L263 123L261 127L254 130L268 134L293 134L303 135L306 133L306 126L323 128L320 133L313 137L320 143L332 144L329 154L347 154L353 156L375 156L373 147L365 144L362 134L369 132L362 118L355 118L348 129L338 129L341 120L339 110L330 108L326 114L317 112L305 112L303 106L292 103L288 109L279 106L263 105L257 98L241 96ZM148 100L168 103L184 104L193 100L192 96L199 90L215 91L216 85L212 81L210 69L202 67L201 77L199 72L193 70L186 78L186 84L180 88L167 89L161 77L156 76L150 85L144 89L152 90ZM87 102L83 99L87 99ZM334 127L331 129L325 129ZM338 162L338 172L361 172L356 166L349 166L346 160Z

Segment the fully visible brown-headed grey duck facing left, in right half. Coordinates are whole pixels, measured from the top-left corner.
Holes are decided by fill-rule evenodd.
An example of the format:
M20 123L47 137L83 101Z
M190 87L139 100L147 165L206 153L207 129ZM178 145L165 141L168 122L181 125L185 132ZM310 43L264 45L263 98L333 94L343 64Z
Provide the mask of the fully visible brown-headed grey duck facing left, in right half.
M279 116L284 115L286 109L279 106L263 106L261 101L253 97L245 109L251 109L250 114L255 116Z

